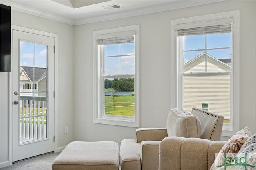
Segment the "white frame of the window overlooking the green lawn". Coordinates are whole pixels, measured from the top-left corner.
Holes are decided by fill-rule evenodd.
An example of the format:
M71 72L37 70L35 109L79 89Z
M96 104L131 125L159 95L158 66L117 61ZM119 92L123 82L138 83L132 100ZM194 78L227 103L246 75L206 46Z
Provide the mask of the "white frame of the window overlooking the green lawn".
M96 37L108 37L113 36L119 37L122 33L128 33L129 31L135 31L135 77L134 77L134 94L135 94L135 114L134 117L130 116L117 116L117 115L104 115L103 114L103 82L101 82L100 71L102 67L102 61L100 56L97 55L97 42ZM126 27L118 27L112 29L104 29L93 31L93 62L94 62L94 99L93 99L93 122L102 123L108 125L119 125L128 127L139 127L139 25L131 25Z

